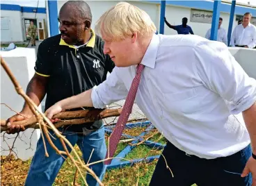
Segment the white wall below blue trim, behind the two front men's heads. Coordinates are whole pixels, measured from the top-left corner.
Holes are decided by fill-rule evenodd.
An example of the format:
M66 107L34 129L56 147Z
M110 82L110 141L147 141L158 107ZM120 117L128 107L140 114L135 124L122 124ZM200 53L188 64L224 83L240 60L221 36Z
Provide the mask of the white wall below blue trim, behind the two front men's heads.
M63 4L66 1L58 1L58 12L63 6ZM90 6L90 9L93 14L93 24L92 28L95 28L95 22L97 22L97 19L106 11L109 10L112 6L114 6L119 1L86 1L88 5ZM138 2L138 1L129 1L129 3L134 4L135 6L138 6L138 8L141 8L147 12L148 15L150 15L152 21L157 26L157 29L159 30L159 19L160 19L160 5L157 3L149 3L149 2ZM191 16L191 8L184 8L180 6L170 6L166 5L166 19L170 24L173 25L179 25L182 24L182 18L187 17L189 19L188 25L191 26L193 29L193 32L196 35L200 35L202 37L205 37L205 34L209 28L211 28L211 24L207 23L198 23L198 22L190 22L190 16ZM221 12L220 15L223 18L223 24L222 27L228 31L228 25L230 22L230 14ZM233 29L234 26L237 26L237 22L233 22ZM164 33L166 35L175 35L177 34L177 31L169 28L166 24L164 26Z

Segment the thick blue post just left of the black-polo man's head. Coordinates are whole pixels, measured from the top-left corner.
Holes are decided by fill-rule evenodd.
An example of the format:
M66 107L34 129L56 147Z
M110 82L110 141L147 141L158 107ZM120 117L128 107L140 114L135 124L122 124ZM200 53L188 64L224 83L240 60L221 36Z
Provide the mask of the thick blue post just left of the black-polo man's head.
M58 35L58 3L57 0L47 1L49 13L50 36Z

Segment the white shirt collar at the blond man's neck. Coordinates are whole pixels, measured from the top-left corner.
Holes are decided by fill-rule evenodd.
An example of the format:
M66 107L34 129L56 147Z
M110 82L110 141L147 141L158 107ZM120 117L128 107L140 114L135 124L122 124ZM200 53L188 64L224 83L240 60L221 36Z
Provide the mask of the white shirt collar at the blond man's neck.
M157 59L157 51L159 47L159 36L154 34L149 46L147 47L147 51L145 52L145 55L143 56L143 59L141 61L142 65L145 65L146 67L150 67L154 69L154 66L156 64Z

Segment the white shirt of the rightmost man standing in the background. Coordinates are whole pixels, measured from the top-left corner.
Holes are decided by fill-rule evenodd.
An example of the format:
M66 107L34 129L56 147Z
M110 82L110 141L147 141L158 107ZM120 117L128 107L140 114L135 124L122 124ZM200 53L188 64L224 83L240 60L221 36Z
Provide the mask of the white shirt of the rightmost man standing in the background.
M256 26L248 24L243 28L243 24L239 24L234 28L231 36L231 46L247 45L248 48L253 49L256 46Z

